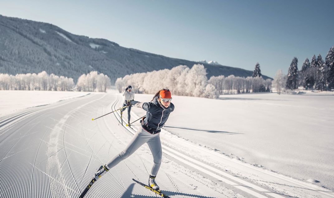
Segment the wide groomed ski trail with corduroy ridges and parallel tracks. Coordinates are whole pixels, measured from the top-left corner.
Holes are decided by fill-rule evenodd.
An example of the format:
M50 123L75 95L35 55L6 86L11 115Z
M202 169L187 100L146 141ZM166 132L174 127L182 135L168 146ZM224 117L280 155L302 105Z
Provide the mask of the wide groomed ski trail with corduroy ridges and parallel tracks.
M122 151L140 127L125 126L126 119L121 125L119 111L91 120L118 109L122 99L116 92L91 94L2 118L0 198L78 197L96 169ZM326 189L233 160L165 130L160 136L163 159L157 182L172 198L334 197ZM189 154L193 151L250 176L231 174ZM98 180L86 197L155 197L132 181L147 183L152 161L143 145Z

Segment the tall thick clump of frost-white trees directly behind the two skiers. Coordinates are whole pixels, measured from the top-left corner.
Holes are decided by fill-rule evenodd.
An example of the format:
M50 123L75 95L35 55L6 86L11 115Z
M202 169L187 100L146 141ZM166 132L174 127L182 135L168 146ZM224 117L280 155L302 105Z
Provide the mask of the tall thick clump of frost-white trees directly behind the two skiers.
M116 80L115 86L122 92L132 85L135 93L154 94L162 88L169 88L175 95L216 97L218 92L208 85L206 70L203 65L193 65L191 69L179 65L172 69L135 73ZM213 86L214 87L214 86Z

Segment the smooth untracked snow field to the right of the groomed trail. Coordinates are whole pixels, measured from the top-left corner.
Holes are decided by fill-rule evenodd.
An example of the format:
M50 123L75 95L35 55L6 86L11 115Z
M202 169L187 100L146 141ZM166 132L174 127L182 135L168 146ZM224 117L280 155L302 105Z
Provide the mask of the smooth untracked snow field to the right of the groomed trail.
M152 95L136 94L150 101ZM334 190L333 92L172 96L165 130L231 158ZM138 116L144 112L132 108Z

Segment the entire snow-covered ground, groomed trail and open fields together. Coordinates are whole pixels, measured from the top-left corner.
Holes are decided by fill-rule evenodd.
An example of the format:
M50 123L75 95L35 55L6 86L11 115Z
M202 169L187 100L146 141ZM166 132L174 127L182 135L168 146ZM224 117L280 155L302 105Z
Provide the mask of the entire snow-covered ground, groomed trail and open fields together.
M116 90L37 93L0 91L1 111L11 112L0 116L0 177L14 162L24 170L0 186L0 198L77 197L95 169L122 151L140 125L120 125L119 111L91 121L122 106ZM135 100L147 102L152 96L136 94ZM40 106L50 99L64 101ZM328 190L334 183L333 99L331 92L173 96L175 111L160 134L163 160L157 181L172 198L334 197ZM40 107L22 109L32 106ZM143 115L133 107L131 121ZM151 159L143 145L86 197L153 197L131 180L146 181Z

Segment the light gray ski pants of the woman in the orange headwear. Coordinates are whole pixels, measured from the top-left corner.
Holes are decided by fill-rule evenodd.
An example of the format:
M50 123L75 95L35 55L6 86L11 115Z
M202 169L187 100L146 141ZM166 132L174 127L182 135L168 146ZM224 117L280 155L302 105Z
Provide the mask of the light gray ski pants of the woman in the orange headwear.
M142 127L139 127L137 133L132 137L131 141L125 147L125 149L116 155L113 159L111 159L107 166L109 168L116 166L118 163L120 163L120 161L126 159L132 153L134 153L144 143L148 144L152 152L154 164L151 170L151 175L156 176L160 168L162 157L160 133L152 135L151 133L145 131Z

